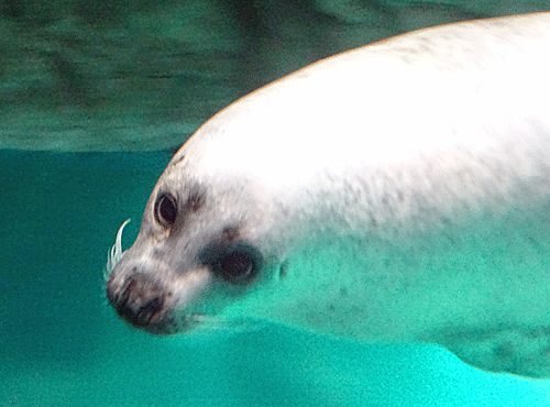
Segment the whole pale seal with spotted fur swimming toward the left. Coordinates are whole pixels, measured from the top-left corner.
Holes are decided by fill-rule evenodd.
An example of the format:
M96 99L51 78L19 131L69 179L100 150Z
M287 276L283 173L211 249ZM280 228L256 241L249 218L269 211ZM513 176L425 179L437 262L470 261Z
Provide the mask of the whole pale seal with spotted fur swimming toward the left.
M238 100L174 155L107 297L550 374L550 13L421 30Z

